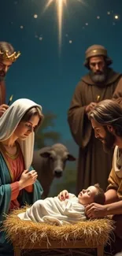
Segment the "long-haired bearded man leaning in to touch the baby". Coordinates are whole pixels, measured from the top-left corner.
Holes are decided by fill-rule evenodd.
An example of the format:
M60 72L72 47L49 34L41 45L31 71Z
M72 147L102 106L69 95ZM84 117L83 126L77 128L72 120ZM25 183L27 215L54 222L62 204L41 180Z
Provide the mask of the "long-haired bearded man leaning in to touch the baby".
M114 255L122 250L122 108L113 100L104 100L91 110L90 120L96 139L102 141L105 149L115 149L105 205L91 203L86 206L86 214L89 218L113 216L115 237L105 250Z

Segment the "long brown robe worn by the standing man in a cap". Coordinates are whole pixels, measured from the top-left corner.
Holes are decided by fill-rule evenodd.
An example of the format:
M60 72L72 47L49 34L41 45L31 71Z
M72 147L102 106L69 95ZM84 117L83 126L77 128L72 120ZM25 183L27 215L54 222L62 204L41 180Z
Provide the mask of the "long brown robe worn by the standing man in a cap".
M83 76L76 86L71 106L68 109L68 124L72 137L79 146L76 193L91 184L99 183L103 189L108 185L108 176L112 167L113 150L106 154L102 142L94 137L91 121L85 113L85 107L91 102L106 98L116 98L122 102L122 74L109 69L108 79L98 87L91 76Z

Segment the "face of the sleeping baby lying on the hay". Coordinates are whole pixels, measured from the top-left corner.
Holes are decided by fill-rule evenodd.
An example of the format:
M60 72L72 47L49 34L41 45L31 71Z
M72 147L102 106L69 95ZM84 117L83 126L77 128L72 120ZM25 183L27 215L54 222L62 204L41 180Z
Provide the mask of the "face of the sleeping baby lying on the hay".
M83 191L80 191L78 198L79 203L83 205L90 204L91 202L94 202L94 195L97 194L97 188L94 186L87 187L87 189L83 189Z

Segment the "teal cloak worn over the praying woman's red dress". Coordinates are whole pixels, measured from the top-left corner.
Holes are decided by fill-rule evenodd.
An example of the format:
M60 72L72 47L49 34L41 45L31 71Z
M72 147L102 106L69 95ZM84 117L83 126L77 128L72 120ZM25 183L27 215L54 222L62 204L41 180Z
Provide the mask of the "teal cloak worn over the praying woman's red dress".
M29 171L31 171L30 167ZM2 221L5 220L5 214L9 213L9 205L11 200L11 187L10 184L13 183L12 177L10 175L9 165L6 164L5 159L0 154L0 227L2 227ZM35 201L41 199L43 194L43 187L36 180L34 184L34 189L32 193L28 193L24 189L21 191L21 195L18 196L18 201L20 206L25 204L31 205ZM4 232L0 232L0 247L2 243L5 243L6 237Z

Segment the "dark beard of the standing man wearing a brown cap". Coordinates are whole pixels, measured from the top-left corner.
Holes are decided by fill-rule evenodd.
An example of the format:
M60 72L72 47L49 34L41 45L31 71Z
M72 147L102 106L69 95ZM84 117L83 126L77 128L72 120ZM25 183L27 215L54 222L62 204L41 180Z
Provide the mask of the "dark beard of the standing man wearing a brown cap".
M105 69L104 71L98 71L98 72L90 72L91 80L94 83L104 83L107 77L107 70Z

